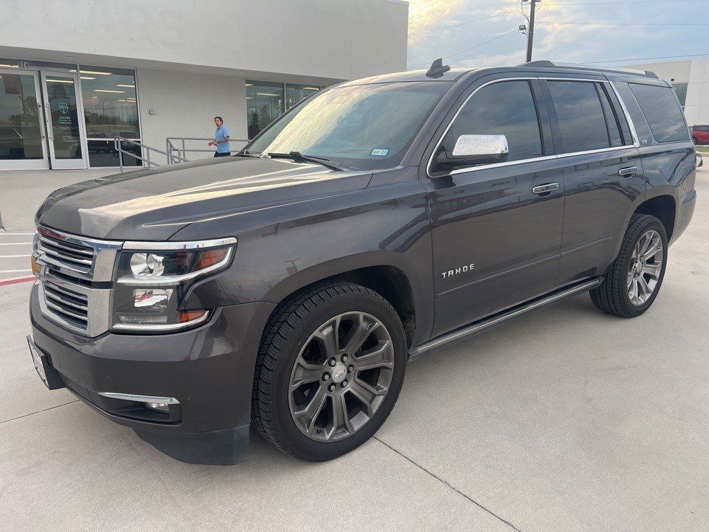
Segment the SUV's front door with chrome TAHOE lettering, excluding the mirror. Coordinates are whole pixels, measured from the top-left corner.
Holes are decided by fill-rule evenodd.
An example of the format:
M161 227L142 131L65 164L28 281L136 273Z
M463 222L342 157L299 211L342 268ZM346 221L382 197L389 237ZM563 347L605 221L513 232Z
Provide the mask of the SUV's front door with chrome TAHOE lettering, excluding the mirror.
M430 170L433 336L554 289L564 184L536 79L498 80L472 92L443 135L505 135L508 162ZM542 185L547 185L540 189Z

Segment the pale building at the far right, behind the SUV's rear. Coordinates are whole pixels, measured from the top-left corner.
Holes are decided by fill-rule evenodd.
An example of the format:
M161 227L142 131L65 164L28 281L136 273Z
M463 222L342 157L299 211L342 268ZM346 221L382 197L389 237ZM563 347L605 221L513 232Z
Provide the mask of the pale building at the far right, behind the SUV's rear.
M709 124L709 55L681 61L627 65L628 68L651 70L671 82L679 96L687 123Z

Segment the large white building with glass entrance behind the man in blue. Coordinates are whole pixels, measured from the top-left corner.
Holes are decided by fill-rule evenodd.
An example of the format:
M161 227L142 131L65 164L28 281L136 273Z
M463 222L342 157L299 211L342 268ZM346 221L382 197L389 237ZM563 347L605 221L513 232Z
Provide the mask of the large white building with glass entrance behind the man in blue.
M0 6L0 169L116 166L114 137L165 150L213 137L214 116L247 139L321 87L406 70L400 0Z

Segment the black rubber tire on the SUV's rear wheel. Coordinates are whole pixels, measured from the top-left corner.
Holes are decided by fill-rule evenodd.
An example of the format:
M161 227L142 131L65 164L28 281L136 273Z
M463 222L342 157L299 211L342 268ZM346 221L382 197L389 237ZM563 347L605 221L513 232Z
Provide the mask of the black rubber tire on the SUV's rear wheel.
M662 260L659 279L652 294L642 304L634 304L628 294L628 272L631 269L632 253L640 238L647 231L657 231L662 243ZM635 318L647 311L657 297L664 279L667 266L667 233L658 218L649 214L634 214L630 218L627 231L620 245L618 257L608 267L603 284L591 290L591 301L596 307L608 314L623 318Z

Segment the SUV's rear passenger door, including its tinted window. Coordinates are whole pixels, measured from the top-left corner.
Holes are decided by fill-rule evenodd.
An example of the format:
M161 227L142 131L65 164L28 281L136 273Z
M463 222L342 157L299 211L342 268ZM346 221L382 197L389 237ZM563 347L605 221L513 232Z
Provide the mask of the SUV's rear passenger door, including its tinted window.
M605 271L646 184L637 135L607 79L546 77L542 86L564 179L562 286Z

